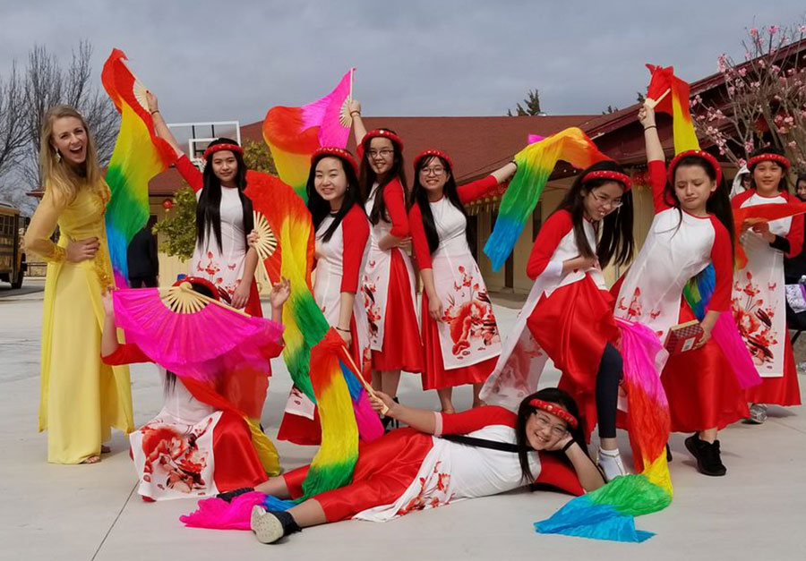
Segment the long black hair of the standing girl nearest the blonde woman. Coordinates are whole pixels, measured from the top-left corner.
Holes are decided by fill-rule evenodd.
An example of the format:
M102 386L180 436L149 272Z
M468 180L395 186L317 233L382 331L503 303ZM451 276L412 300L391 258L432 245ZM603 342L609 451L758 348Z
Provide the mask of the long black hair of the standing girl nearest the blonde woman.
M221 137L210 142L210 146L217 144L237 144L235 140ZM252 232L254 227L252 201L244 195L246 188L246 165L244 157L239 152L233 152L236 157L238 170L236 172L235 183L238 189L238 198L241 200L241 207L244 209L244 241L246 234ZM216 238L216 243L221 251L221 182L212 169L212 158L215 153L207 157L204 166L202 179L204 186L201 189L199 202L196 205L196 243L204 247L204 242L210 237L210 230Z

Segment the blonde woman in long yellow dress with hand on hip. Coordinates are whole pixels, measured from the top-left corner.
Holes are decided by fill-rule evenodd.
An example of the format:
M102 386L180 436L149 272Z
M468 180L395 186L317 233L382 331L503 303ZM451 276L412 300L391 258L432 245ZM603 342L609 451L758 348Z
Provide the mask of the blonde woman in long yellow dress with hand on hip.
M134 429L129 370L100 360L104 308L112 285L104 210L109 188L83 116L47 111L39 166L45 196L31 218L25 249L47 261L42 314L39 430L47 461L96 463L111 427ZM59 227L59 241L50 237Z

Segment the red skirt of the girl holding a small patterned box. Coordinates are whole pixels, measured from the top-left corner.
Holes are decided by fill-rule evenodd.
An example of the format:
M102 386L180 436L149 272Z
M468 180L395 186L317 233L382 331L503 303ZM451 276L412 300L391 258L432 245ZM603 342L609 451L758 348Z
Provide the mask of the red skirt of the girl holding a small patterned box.
M696 319L681 299L680 320ZM669 357L661 374L673 432L724 429L750 415L730 362L713 339L699 349Z

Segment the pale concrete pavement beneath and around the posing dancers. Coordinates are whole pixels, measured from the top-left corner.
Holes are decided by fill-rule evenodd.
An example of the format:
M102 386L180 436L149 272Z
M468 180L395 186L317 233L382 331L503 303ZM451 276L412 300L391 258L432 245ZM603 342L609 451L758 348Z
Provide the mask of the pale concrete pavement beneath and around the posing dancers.
M96 465L62 466L45 461L45 434L37 434L41 283L26 289L0 287L0 559L804 559L806 558L806 411L770 408L762 426L737 424L720 436L728 468L707 478L694 468L682 439L674 435L672 506L639 517L656 531L644 544L617 544L538 535L532 523L569 497L557 493L480 498L390 523L345 522L305 530L287 543L262 546L249 532L186 529L178 516L191 499L143 503L134 492L127 441L116 433L111 455ZM517 310L496 306L503 333ZM800 359L802 360L802 358ZM554 384L556 370L544 376ZM159 411L161 387L155 367L132 369L135 421ZM806 379L801 377L802 387ZM282 361L274 377L263 424L274 438L290 382ZM401 401L438 408L435 392L405 375ZM468 388L456 404L470 403ZM620 434L622 450L628 450ZM277 442L286 469L307 463L315 449Z

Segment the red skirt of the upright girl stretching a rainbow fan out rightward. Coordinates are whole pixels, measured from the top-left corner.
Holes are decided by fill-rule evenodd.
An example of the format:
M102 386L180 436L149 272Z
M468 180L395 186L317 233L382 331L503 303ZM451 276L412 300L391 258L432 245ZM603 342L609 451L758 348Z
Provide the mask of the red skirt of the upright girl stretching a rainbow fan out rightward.
M442 387L464 386L465 384L483 384L495 368L498 357L476 362L470 366L445 370L442 362L442 345L440 330L428 313L428 296L423 293L423 305L420 310L423 319L423 347L425 364L423 371L423 389L440 389Z

